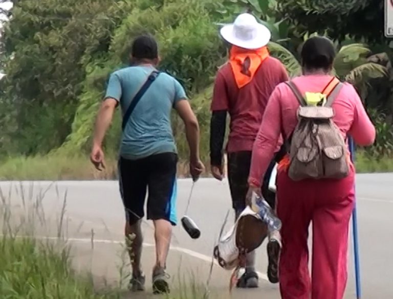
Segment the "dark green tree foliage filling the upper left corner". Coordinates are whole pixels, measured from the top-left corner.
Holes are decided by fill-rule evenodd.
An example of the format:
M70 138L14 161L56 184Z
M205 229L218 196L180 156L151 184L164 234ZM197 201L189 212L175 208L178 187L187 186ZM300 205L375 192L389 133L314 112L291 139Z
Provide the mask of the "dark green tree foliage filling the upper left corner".
M70 133L84 65L105 53L129 1L19 0L2 35L0 147L47 152Z

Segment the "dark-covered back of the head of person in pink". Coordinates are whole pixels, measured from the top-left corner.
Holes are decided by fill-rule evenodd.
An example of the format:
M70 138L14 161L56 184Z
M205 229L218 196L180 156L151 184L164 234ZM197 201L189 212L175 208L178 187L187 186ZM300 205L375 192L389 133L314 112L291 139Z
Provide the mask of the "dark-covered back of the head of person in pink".
M302 65L308 69L328 70L336 57L333 42L326 37L314 36L304 42L301 49Z

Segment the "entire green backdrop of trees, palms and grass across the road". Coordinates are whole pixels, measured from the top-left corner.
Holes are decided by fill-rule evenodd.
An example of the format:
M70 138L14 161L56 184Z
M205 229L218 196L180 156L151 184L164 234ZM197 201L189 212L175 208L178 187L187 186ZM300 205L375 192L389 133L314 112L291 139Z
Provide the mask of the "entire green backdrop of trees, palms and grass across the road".
M227 56L218 30L245 11L269 27L271 54L291 76L301 71L305 39L334 39L335 73L355 85L378 132L374 146L358 149L358 170L392 171L393 51L380 32L383 0L19 0L0 38L0 179L116 176L120 115L105 140L103 173L88 162L93 123L108 75L127 65L130 41L146 32L159 41L161 70L187 90L208 166L212 83ZM172 121L186 176L183 125L174 114Z

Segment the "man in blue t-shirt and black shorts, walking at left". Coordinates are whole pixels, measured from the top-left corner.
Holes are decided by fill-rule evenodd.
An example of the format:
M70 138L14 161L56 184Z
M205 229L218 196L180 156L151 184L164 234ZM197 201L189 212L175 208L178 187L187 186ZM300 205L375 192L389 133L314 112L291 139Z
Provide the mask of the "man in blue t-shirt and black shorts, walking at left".
M120 104L123 116L134 97L147 81L157 72L159 62L157 42L149 35L137 37L132 46L132 65L111 74L105 99L98 112L92 163L98 170L104 167L102 142ZM123 130L120 158L119 185L122 196L126 225L125 234L135 238L130 245L132 279L130 288L144 290L145 276L141 269L142 232L144 202L148 191L147 219L155 225L157 261L152 273L155 293L168 292L166 258L176 219L176 170L177 148L174 142L170 114L176 109L185 124L190 149L190 173L198 179L204 166L199 158L199 125L181 84L165 73L155 73L152 81Z

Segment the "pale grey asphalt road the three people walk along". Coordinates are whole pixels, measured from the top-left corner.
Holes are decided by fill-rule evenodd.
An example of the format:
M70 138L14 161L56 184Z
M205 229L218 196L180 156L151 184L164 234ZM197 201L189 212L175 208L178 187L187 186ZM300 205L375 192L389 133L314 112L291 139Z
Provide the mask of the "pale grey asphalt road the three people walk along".
M23 206L23 200L34 201L40 198L40 205L45 211L48 223L59 223L60 210L66 198L63 227L65 234L73 241L75 265L84 268L90 264L95 276L105 276L114 280L118 271L114 267L115 259L122 240L124 213L115 181L61 181L23 182L21 192L18 182L0 182L3 197L10 200L14 214ZM190 180L178 182L178 216L183 216ZM10 190L12 192L10 193ZM45 196L42 196L44 191ZM357 176L357 209L360 240L360 262L362 298L393 298L393 174L363 174ZM67 192L67 194L65 194ZM41 195L39 195L41 193ZM213 179L201 179L195 185L189 216L198 223L202 235L199 240L191 240L181 226L174 229L168 268L176 275L180 268L199 272L199 282L206 282L211 252L219 236L225 215L230 210L228 183ZM231 220L233 214L231 212ZM38 221L38 220L37 220ZM51 222L53 221L53 222ZM56 235L57 227L49 225L46 235ZM146 250L143 263L146 271L152 266L154 244L152 224L143 224ZM94 236L93 236L94 235ZM92 237L93 236L93 237ZM91 245L91 239L95 245ZM352 231L351 231L352 241ZM352 245L352 243L351 243ZM94 250L92 249L94 247ZM355 298L355 280L353 266L353 246L348 252L349 280L345 298ZM94 251L94 252L93 252ZM90 257L89 259L86 257ZM263 294L267 299L278 299L277 285L271 285L264 279L267 268L266 244L258 249L257 269L261 272L261 286L258 290L236 291L236 297L257 298ZM202 271L202 272L200 272ZM215 267L209 288L217 296L228 289L230 273ZM226 293L225 293L226 294ZM226 297L223 295L223 297Z

